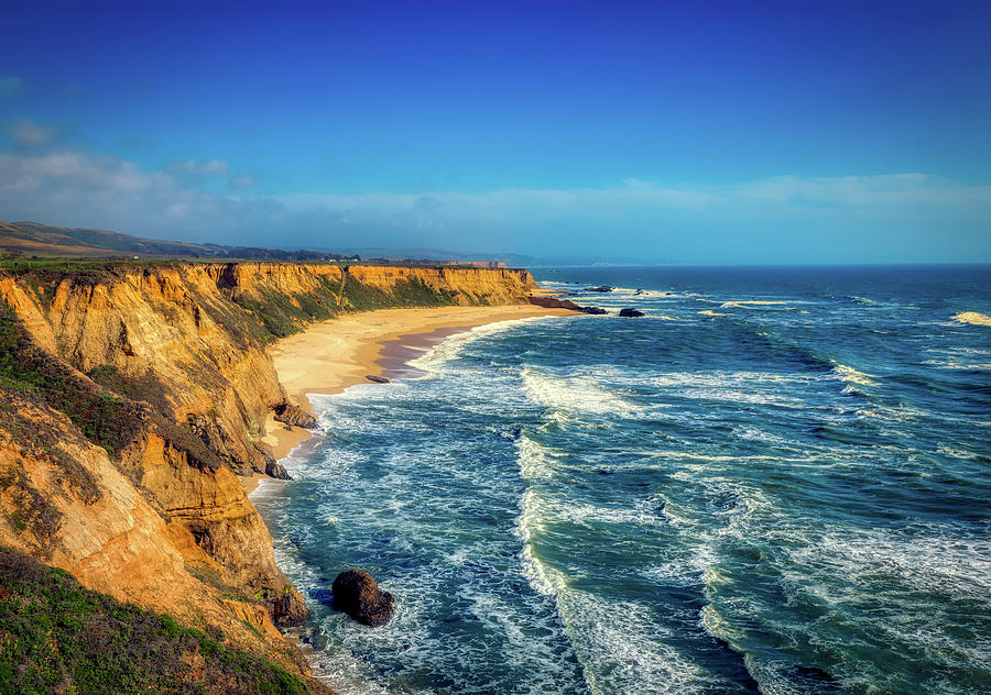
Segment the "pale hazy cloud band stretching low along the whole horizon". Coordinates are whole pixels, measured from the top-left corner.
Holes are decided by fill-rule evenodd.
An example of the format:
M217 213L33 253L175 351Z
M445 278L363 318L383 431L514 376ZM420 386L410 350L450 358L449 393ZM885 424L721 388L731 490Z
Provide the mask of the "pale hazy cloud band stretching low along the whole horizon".
M536 254L663 249L667 257L694 262L771 262L778 252L778 260L788 260L788 249L815 235L836 255L806 261L869 251L876 260L938 260L930 255L945 251L991 261L991 187L918 173L695 187L628 179L606 188L420 195L236 192L254 184L248 174L230 176L228 194L196 186L197 177L221 175L230 176L229 167L218 159L148 173L80 150L0 151L0 218L218 243L428 244Z

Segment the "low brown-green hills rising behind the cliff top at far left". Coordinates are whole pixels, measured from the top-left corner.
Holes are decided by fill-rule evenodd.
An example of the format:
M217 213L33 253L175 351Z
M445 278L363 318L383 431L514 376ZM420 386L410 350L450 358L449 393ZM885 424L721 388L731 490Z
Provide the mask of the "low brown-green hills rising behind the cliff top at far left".
M21 251L26 255L87 258L119 255L199 258L226 255L222 246L214 244L142 239L101 229L53 227L37 222L0 222L0 249Z

